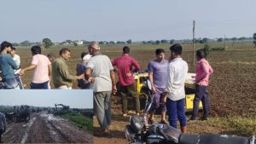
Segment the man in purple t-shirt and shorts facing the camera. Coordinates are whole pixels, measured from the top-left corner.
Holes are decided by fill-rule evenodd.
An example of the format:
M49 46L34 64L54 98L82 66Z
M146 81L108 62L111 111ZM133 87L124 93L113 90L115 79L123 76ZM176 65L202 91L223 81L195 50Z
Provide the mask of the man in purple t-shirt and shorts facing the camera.
M156 59L148 63L148 78L151 83L152 92L154 94L152 106L149 109L148 122L153 123L154 112L159 110L161 112L162 124L167 124L166 121L166 104L160 103L163 93L166 88L168 60L165 60L165 50L155 50Z

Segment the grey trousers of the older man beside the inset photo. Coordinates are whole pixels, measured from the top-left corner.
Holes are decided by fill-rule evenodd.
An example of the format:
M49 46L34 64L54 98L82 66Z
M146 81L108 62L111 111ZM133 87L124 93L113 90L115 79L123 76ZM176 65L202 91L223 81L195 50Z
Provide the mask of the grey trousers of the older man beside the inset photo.
M94 112L102 130L108 129L111 124L111 93L112 91L93 93Z

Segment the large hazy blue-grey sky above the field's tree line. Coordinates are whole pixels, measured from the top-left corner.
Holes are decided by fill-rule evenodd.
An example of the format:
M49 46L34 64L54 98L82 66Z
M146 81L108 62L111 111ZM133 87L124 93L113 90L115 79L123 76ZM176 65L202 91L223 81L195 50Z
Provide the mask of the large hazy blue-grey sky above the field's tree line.
M255 0L1 0L0 41L252 37Z

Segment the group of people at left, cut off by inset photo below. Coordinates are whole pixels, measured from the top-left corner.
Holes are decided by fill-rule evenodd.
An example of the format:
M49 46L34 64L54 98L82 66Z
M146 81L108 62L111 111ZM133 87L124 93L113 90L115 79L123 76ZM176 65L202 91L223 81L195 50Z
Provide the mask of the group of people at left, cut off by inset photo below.
M4 41L1 43L0 68L1 68L1 89L23 89L24 84L20 76L27 71L33 71L31 89L50 89L49 81L55 89L72 89L73 81L78 80L81 89L89 89L90 84L84 79L84 69L90 59L89 54L83 53L82 62L77 66L77 74L70 74L67 60L70 58L70 49L63 48L59 52L59 57L55 55L42 55L41 47L32 46L32 62L30 66L20 68L20 56L15 54L15 47L11 43ZM84 62L85 61L85 62Z

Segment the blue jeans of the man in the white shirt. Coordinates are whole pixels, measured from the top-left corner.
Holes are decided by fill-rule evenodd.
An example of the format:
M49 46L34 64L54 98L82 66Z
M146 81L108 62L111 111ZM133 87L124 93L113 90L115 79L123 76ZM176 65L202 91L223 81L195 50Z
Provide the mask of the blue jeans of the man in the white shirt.
M177 118L180 122L180 126L186 126L187 120L185 115L185 99L181 99L178 101L172 101L171 99L166 99L166 108L168 112L168 120L170 125L173 128L177 129Z

